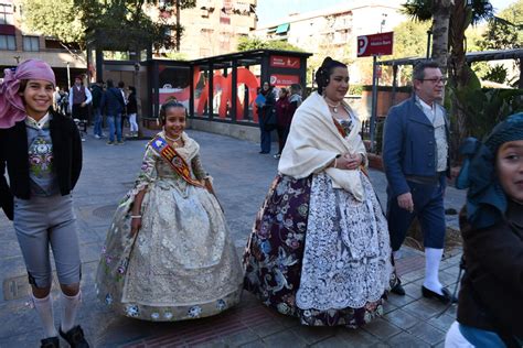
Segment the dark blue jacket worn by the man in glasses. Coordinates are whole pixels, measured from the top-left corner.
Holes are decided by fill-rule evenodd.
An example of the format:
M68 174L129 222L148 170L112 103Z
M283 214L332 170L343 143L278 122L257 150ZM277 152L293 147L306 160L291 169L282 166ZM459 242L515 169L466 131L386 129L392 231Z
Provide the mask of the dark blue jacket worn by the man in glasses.
M438 151L435 130L415 101L413 94L412 98L392 107L383 129L383 166L394 197L410 192L406 175L436 176ZM444 117L448 141L449 121L445 109ZM448 163L447 157L447 168ZM446 180L445 175L441 180Z

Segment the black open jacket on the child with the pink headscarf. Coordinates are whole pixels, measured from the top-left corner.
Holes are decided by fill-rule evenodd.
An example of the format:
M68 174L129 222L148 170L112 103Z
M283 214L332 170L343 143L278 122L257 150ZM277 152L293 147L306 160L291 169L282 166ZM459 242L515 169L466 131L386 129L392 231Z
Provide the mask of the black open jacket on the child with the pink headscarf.
M50 110L53 161L58 180L60 193L68 195L78 181L82 171L82 140L74 121ZM31 198L29 176L28 131L25 121L0 129L0 205L9 219L13 216L13 197ZM9 176L9 184L4 176Z

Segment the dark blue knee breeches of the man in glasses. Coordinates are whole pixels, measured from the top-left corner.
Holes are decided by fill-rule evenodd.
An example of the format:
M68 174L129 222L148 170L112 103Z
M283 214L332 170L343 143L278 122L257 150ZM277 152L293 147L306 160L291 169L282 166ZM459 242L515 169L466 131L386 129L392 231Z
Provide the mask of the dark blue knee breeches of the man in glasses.
M414 211L409 213L397 205L397 196L387 198L388 232L391 247L397 251L402 247L405 236L414 218L417 217L424 235L425 248L442 249L445 244L445 185L417 184L407 181L413 195Z

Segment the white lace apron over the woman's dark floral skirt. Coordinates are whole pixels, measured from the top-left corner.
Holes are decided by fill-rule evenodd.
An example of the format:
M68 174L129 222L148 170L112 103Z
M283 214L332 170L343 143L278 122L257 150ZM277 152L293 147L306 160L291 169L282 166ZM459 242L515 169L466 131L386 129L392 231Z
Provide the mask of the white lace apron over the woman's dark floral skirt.
M332 188L324 173L312 180L297 305L301 309L361 308L378 301L392 275L387 222L369 180L365 199Z

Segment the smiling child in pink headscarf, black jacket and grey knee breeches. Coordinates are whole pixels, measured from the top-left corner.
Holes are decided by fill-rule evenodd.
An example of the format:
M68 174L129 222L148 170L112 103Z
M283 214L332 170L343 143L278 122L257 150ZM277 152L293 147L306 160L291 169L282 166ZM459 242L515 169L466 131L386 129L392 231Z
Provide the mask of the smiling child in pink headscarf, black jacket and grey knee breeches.
M88 347L79 325L81 261L71 192L82 170L82 142L72 119L52 110L54 73L29 59L6 69L0 85L0 206L13 227L28 269L42 347ZM4 176L8 168L8 181ZM58 333L50 296L53 249L62 290Z

